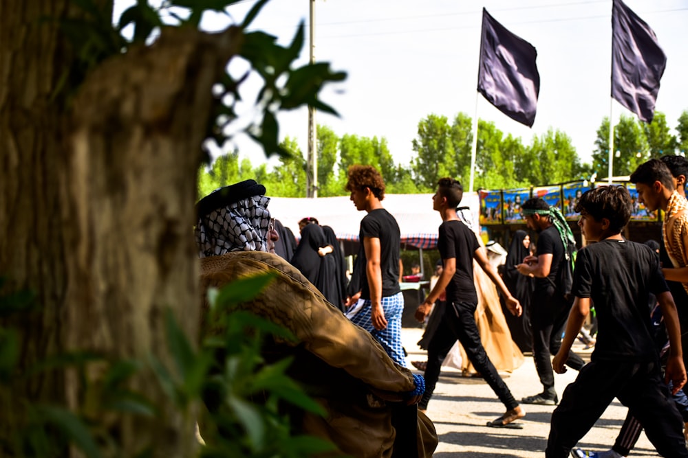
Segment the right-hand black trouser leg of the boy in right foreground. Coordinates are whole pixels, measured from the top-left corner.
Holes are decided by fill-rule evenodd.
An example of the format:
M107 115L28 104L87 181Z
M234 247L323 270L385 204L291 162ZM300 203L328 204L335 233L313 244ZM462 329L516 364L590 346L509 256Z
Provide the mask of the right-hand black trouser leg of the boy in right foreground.
M667 458L688 457L683 419L662 381L659 363L636 363L618 397L645 429L649 442Z

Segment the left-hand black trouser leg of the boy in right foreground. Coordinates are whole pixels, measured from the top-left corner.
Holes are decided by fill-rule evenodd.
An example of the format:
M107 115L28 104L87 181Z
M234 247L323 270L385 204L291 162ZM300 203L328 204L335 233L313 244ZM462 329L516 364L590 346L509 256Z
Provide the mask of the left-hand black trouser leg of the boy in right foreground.
M590 363L581 369L552 413L546 458L568 458L571 449L614 400L623 374L623 366L608 362Z

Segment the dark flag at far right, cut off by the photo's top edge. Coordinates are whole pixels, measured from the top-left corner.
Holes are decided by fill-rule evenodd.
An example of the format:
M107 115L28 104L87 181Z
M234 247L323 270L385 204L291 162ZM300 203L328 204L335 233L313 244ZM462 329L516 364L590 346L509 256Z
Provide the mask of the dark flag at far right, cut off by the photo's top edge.
M612 98L652 122L667 56L649 25L623 1L612 5Z

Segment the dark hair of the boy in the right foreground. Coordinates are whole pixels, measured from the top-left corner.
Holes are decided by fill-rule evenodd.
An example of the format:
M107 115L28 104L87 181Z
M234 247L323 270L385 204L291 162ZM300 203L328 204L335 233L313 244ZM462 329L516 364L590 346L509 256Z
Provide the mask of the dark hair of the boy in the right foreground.
M631 195L625 186L611 185L585 191L574 211L585 211L596 221L607 218L610 230L619 233L631 218L631 209Z

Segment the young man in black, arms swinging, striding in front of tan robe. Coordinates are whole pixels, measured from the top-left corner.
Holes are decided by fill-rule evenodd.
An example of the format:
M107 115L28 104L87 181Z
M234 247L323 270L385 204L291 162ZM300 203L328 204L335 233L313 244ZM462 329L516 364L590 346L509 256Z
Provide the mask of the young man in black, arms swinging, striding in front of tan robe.
M442 361L458 339L466 350L466 355L473 363L475 370L482 374L482 377L506 407L504 415L497 420L488 422L487 425L504 427L524 417L526 413L497 373L497 369L488 358L480 342L480 332L478 332L475 323L477 294L475 293L475 284L473 284L473 259L492 279L499 292L504 295L510 312L520 315L522 309L519 301L509 293L504 282L502 282L502 278L488 262L485 249L480 247L475 233L459 220L456 207L461 202L462 196L463 187L461 183L451 178L440 179L437 191L433 196L433 209L442 216L438 249L444 267L440 279L425 298L425 301L418 306L416 319L421 323L424 321L442 291L446 291L447 302L444 305L444 310L433 312L442 313L442 320L428 345L425 393L420 404L418 404L418 409L422 411L427 409L440 376Z

